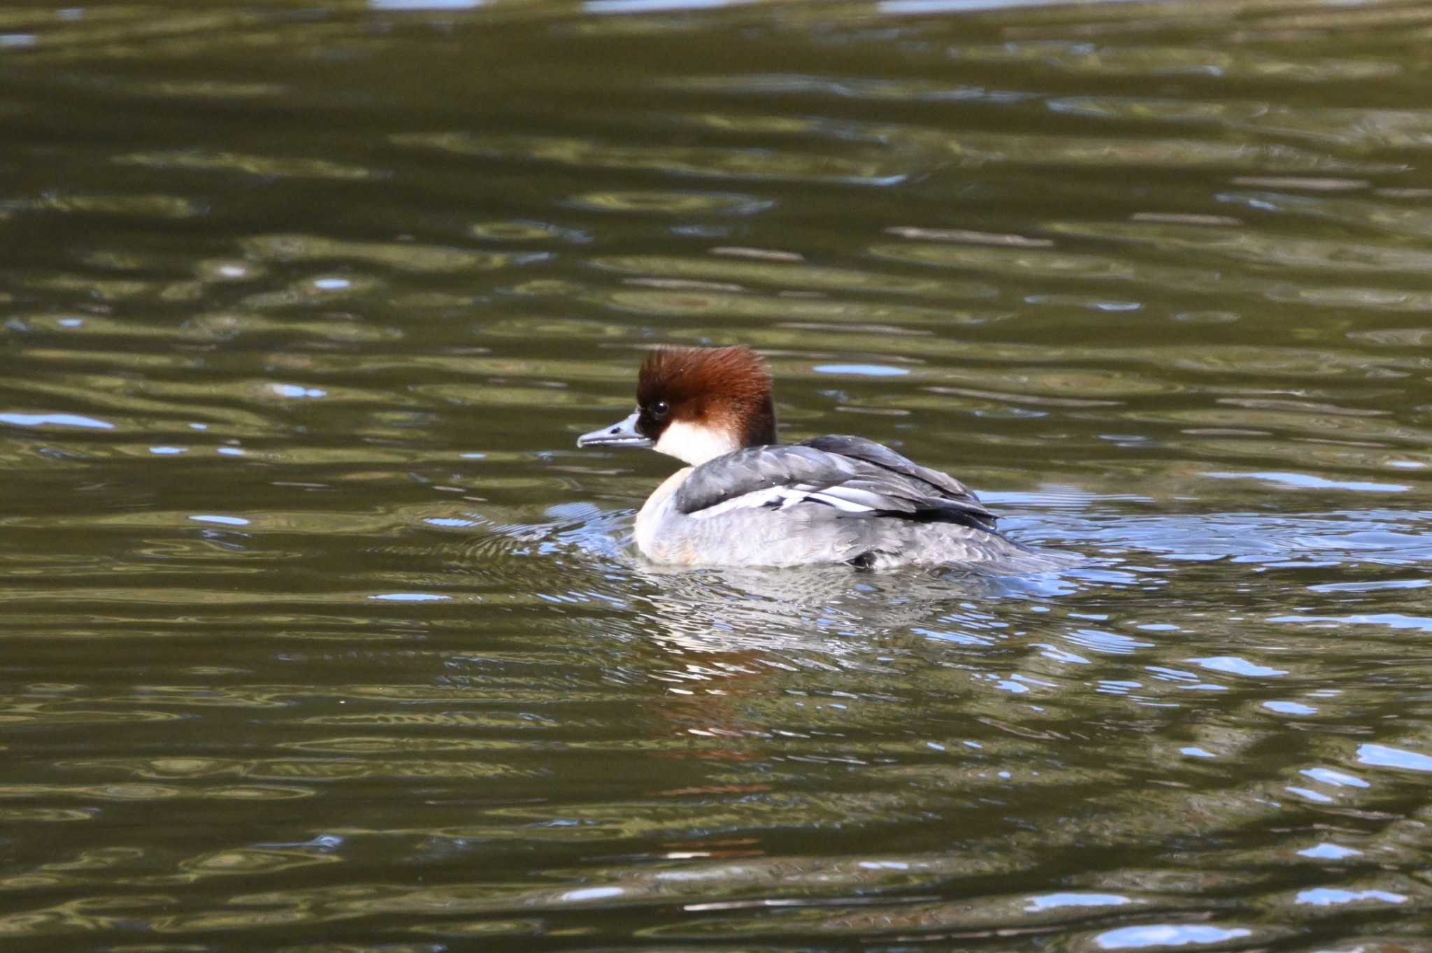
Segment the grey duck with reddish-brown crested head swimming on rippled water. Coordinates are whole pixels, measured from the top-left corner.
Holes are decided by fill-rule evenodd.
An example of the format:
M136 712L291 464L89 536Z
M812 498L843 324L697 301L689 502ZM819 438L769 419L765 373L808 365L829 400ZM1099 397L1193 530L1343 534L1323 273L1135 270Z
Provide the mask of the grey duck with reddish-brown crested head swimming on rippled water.
M772 376L746 345L660 346L636 409L579 448L647 448L686 464L642 505L634 539L664 567L955 567L1015 575L1065 559L1010 539L958 479L862 436L776 436Z

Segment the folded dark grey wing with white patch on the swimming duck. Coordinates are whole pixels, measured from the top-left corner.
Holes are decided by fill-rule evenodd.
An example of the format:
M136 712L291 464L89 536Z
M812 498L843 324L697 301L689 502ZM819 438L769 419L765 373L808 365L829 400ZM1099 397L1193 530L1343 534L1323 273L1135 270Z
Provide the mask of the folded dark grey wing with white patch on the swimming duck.
M858 436L821 436L788 446L749 446L697 466L676 491L676 508L695 514L746 494L806 491L811 502L842 515L895 515L994 529L995 517L964 484L888 446Z

